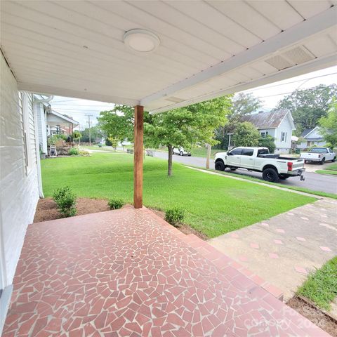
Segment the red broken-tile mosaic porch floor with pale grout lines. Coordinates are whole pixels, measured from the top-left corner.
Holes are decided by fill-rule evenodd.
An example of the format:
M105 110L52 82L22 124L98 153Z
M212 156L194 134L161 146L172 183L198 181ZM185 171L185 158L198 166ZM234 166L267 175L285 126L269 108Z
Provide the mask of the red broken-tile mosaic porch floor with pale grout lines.
M29 225L3 337L329 336L207 245L147 209Z

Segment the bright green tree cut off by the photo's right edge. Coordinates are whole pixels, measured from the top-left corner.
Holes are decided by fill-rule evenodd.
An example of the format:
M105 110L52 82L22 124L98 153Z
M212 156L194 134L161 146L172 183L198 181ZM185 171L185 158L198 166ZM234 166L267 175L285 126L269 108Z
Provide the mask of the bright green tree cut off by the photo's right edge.
M330 143L331 147L337 147L337 99L333 101L329 107L326 117L319 119L319 132L324 137L326 143Z

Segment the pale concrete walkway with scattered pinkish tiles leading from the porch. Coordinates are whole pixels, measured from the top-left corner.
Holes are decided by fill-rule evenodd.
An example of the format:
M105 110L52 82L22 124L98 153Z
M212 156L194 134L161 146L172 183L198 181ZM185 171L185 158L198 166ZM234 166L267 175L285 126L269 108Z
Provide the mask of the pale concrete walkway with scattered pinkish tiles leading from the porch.
M336 256L336 216L337 200L320 199L209 244L279 287L287 300L308 272Z

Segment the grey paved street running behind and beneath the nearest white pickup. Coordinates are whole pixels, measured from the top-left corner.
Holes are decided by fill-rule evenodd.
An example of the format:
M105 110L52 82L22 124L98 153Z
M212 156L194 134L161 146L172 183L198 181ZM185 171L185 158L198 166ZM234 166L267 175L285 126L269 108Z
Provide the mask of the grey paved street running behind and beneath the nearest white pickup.
M154 151L154 157L167 159L167 152ZM205 168L206 166L206 158L201 157L180 157L177 155L173 155L173 161L177 161L178 163L183 163L187 165L190 164L194 166L199 166L202 168ZM311 165L312 164L310 164L310 167ZM210 169L214 169L213 159L211 159ZM321 169L321 167L317 169ZM244 169L238 169L237 171L235 171L235 173L237 173L238 175L251 176L262 180L262 174L258 172L249 172ZM337 177L335 176L325 176L322 174L307 171L305 172L305 181L300 181L300 178L296 177L289 178L287 180L281 181L280 183L287 186L303 187L313 191L337 194Z

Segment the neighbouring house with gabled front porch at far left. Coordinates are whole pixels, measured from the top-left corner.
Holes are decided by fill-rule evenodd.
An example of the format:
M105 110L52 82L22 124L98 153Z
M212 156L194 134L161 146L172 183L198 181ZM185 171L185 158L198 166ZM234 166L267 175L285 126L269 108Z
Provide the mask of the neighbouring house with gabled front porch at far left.
M34 95L34 97L41 99L40 95ZM37 103L34 108L37 110L39 147L44 154L47 153L48 137L56 134L70 136L74 128L79 125L79 122L74 121L72 117L52 110L48 103Z

